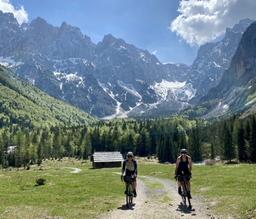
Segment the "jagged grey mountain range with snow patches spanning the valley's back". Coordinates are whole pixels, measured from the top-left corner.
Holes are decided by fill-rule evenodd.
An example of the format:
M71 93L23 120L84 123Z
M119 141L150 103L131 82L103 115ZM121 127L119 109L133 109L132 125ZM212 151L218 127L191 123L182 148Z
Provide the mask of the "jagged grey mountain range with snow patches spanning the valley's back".
M251 23L241 20L223 40L201 46L189 66L161 63L111 34L94 44L65 22L54 27L38 17L19 25L0 11L0 64L95 117L161 116L209 99Z

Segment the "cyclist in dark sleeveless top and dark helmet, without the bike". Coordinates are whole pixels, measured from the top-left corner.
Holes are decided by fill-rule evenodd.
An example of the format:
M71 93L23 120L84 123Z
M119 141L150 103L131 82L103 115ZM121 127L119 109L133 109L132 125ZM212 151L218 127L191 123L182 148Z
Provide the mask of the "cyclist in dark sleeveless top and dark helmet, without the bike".
M174 177L176 178L177 175L186 175L186 174L191 175L191 171L192 171L191 157L187 156L187 150L183 148L180 150L180 156L177 158L177 161L176 161ZM186 184L189 190L190 199L192 199L190 194L190 182L187 181ZM181 195L181 182L178 182L178 193Z

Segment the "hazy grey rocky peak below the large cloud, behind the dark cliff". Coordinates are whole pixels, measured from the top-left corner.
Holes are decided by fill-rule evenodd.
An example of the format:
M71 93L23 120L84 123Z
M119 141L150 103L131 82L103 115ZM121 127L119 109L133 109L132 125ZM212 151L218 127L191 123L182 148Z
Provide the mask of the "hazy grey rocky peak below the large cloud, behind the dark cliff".
M189 81L197 89L195 97L189 103L198 102L201 97L218 85L224 71L230 67L230 61L236 52L241 37L253 20L244 19L233 28L227 28L225 37L216 43L207 43L198 50L198 55L192 64Z

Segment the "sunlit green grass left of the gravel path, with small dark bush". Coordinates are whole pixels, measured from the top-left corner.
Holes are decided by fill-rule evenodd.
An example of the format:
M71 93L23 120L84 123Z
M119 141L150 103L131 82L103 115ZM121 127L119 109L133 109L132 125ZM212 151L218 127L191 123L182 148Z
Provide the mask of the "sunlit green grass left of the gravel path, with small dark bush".
M44 162L45 171L0 172L0 217L95 218L125 198L120 168L91 169L91 162ZM81 168L79 173L70 173ZM33 167L38 168L38 167ZM45 185L35 186L38 177ZM3 201L4 200L4 201Z

